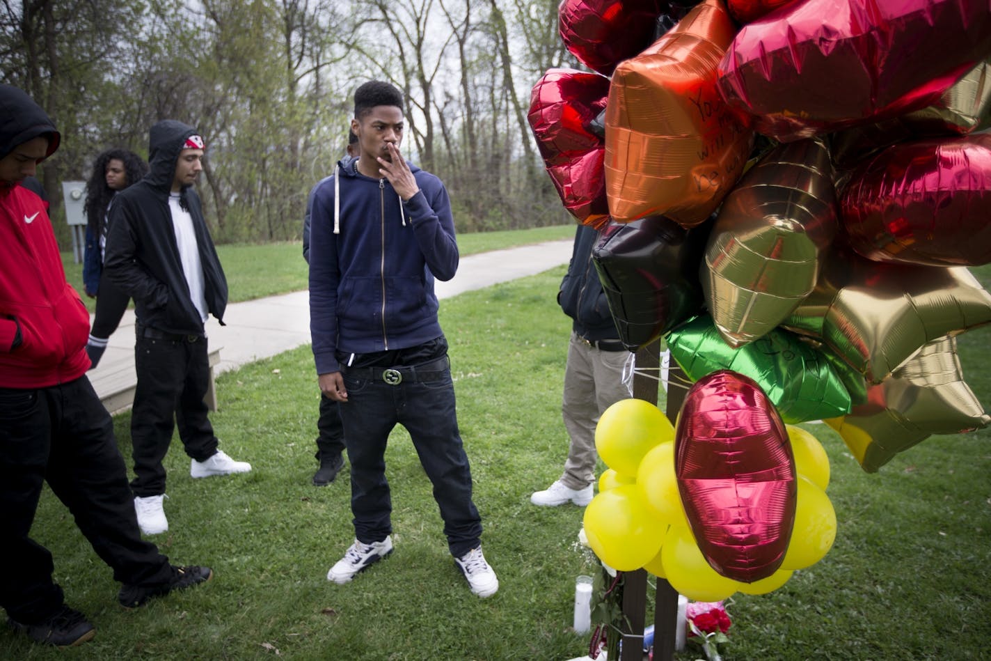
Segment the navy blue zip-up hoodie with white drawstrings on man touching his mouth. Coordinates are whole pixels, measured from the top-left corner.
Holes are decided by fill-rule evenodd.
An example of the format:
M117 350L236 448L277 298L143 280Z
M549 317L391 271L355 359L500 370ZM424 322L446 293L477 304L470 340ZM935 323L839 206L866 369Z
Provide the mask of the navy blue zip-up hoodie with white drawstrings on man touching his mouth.
M310 194L310 334L318 374L340 371L338 350L408 348L443 333L433 283L458 270L451 201L437 177L412 164L409 170L420 190L405 202L387 180L360 174L357 160L338 163L337 174Z

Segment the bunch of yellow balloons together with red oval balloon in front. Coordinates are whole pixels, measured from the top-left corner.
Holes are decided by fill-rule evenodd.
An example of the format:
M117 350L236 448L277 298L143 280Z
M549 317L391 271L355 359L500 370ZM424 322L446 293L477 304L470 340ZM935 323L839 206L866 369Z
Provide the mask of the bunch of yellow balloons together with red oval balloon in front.
M649 402L606 409L596 449L609 467L584 520L596 555L698 601L769 593L826 556L826 451L763 398L724 370L692 387L677 430Z

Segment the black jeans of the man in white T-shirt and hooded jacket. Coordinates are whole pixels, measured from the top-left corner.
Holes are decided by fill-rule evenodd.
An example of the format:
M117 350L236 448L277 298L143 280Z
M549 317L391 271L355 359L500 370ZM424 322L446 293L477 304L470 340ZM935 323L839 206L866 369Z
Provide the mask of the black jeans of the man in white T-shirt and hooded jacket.
M207 418L203 397L210 386L206 337L162 335L138 326L134 347L138 387L131 414L136 496L165 493L165 466L175 425L186 455L202 462L217 453L217 437ZM192 340L192 341L190 341Z

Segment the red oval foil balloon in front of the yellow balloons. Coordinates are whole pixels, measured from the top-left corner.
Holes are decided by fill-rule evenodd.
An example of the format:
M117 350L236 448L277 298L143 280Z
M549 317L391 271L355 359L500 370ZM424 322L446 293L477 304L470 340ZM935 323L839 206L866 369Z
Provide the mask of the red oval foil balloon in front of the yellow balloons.
M798 483L788 432L760 386L727 370L692 386L678 416L675 475L696 542L716 572L753 583L778 570Z

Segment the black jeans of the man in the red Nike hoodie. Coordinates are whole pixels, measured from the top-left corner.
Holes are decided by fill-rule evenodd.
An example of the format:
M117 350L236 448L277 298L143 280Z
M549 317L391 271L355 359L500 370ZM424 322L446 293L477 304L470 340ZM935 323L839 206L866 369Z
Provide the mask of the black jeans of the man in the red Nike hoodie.
M28 536L43 480L115 580L168 580L168 559L141 538L113 423L89 380L0 388L0 605L8 615L37 623L62 604L52 554Z

